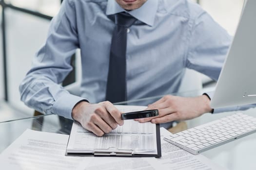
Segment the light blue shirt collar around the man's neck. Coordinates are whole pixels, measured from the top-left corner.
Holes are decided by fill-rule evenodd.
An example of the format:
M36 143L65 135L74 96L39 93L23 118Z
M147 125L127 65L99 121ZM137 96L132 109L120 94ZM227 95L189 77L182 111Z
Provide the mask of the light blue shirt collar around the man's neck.
M106 15L114 15L120 12L128 12L141 22L153 26L158 10L158 0L147 0L140 8L126 11L116 2L116 0L108 0Z

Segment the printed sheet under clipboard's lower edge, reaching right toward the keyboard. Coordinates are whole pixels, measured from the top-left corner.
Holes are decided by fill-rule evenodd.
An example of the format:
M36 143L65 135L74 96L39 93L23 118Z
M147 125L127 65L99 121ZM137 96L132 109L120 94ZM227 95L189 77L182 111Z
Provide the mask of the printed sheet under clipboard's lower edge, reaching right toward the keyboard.
M88 157L77 170L224 170L203 155L193 155L163 140L170 135L161 131L162 157Z

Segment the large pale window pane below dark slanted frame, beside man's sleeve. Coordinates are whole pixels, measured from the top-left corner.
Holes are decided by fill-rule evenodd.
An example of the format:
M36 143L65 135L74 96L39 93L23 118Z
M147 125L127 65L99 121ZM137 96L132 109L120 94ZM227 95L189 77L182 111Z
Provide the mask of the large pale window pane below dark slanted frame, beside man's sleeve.
M5 17L9 103L32 116L33 111L20 101L19 85L46 40L50 21L10 8L5 9Z

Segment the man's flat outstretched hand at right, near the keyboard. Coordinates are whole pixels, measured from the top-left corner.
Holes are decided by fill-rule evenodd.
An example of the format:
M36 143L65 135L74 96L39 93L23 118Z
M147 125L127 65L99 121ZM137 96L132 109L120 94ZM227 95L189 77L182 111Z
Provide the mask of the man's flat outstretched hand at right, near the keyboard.
M157 102L148 105L146 110L158 109L159 116L135 119L139 122L166 123L174 120L187 120L212 111L210 99L206 95L185 98L166 95Z

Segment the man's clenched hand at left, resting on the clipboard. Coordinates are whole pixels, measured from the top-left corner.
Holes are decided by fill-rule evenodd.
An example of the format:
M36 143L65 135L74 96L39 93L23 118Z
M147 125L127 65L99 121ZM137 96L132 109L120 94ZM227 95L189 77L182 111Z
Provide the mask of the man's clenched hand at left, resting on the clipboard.
M123 125L121 112L108 101L97 104L79 102L72 110L72 118L97 136L103 136L118 125Z

